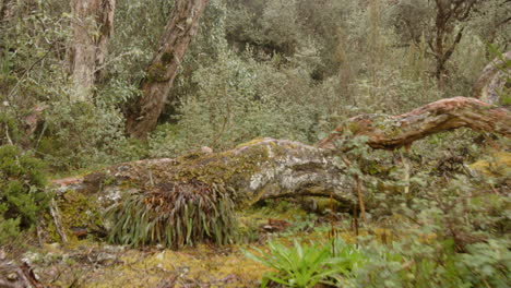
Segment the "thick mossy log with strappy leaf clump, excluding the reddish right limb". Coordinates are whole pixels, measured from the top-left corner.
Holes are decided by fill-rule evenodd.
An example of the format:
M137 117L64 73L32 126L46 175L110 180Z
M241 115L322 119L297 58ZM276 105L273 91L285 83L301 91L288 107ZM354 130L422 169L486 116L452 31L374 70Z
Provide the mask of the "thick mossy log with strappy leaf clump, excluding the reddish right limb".
M238 239L235 208L260 200L314 195L350 203L354 181L328 155L298 142L257 139L227 152L126 163L57 183L70 183L63 197L80 191L97 203L111 242L225 244ZM62 218L66 226L69 217Z

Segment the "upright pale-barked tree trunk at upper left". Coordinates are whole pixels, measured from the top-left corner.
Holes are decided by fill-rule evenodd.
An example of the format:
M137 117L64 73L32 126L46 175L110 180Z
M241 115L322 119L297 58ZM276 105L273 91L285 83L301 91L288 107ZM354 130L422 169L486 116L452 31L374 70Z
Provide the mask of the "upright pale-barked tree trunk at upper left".
M116 0L73 0L73 43L68 57L76 87L76 100L91 101L100 80L107 44L114 31Z

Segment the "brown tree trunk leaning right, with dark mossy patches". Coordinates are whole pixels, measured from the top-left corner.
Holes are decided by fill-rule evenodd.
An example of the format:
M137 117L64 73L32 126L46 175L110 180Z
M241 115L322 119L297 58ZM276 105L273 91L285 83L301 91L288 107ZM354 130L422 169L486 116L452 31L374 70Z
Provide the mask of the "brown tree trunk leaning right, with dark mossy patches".
M157 123L181 60L199 28L199 19L209 0L177 0L165 27L159 49L141 83L142 97L127 113L127 132L143 139Z

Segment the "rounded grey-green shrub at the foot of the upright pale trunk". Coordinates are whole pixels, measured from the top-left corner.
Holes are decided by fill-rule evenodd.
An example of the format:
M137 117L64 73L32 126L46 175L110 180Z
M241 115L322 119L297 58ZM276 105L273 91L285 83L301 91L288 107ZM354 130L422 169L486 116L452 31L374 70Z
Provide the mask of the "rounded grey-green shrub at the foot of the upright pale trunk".
M45 111L37 154L57 171L138 159L142 145L123 134L123 117L100 104L61 99Z

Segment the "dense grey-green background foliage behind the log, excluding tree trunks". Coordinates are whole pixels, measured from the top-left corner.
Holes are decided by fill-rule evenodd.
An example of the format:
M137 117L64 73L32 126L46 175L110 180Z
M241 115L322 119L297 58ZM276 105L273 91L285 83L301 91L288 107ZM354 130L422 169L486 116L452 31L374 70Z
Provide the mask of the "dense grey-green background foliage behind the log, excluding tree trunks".
M437 8L430 1L213 0L182 61L163 125L147 143L124 139L122 112L140 95L171 2L118 1L93 104L73 104L69 8L59 0L2 2L0 119L10 123L14 144L60 171L176 156L203 145L228 148L262 135L313 143L359 112L396 113L470 95L478 71L495 57L486 44L506 50L509 43L502 23L509 7L500 2L483 1L449 24L447 36L462 27L464 33L439 88L428 34ZM417 25L405 25L417 16ZM27 124L29 116L36 120Z

